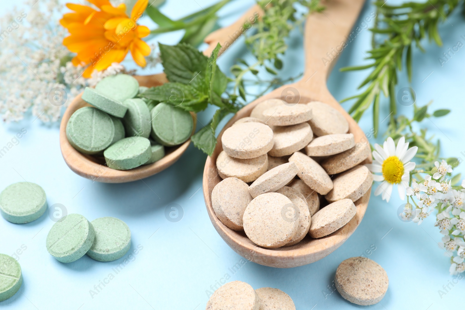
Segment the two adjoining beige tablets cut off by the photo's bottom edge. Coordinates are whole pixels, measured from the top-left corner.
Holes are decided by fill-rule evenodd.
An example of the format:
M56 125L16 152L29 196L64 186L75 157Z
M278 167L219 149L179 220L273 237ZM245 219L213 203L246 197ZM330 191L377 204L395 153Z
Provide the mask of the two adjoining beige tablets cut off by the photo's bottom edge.
M208 300L206 310L295 310L294 302L285 292L271 287L253 290L245 282L224 284Z

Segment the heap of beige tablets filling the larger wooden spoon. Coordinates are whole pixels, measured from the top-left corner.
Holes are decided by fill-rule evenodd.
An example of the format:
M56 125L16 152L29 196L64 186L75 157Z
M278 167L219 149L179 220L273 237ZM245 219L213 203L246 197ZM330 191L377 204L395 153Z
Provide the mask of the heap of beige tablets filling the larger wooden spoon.
M339 230L373 181L360 165L370 146L355 143L348 131L344 115L322 102L259 103L221 137L216 216L269 249Z

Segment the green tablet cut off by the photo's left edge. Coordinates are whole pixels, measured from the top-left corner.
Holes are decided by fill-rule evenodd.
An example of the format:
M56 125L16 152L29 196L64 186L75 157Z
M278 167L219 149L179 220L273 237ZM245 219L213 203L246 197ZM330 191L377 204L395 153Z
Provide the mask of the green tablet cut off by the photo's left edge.
M13 297L23 284L20 263L6 254L0 254L0 301Z

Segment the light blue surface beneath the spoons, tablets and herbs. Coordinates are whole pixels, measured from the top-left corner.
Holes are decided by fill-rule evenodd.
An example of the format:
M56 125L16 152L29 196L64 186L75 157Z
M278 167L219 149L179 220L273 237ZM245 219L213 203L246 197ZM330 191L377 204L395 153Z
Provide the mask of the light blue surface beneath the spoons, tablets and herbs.
M18 2L18 1L16 1ZM198 4L197 4L198 2ZM206 7L213 0L167 0L163 12L172 18L184 16ZM223 25L231 23L244 12L252 0L238 1L220 12ZM8 9L2 4L0 8ZM365 5L361 17L372 12ZM357 24L361 24L361 19ZM427 45L428 53L414 51L412 87L423 105L434 100L433 108L452 108L452 113L441 119L425 119L423 125L441 139L443 155L465 159L463 143L463 85L465 82L465 51L458 53L440 66L438 57L448 47L462 43L465 23L457 12L440 28L443 47ZM453 26L452 26L452 25ZM180 34L179 34L180 35ZM175 35L163 36L164 43L173 43ZM370 33L363 30L345 48L328 84L336 99L353 95L368 71L339 73L342 66L365 63L364 53L370 47ZM286 72L299 73L303 63L302 40L298 32L289 42L286 54ZM234 59L248 57L240 43L228 49L219 60L227 70ZM129 63L129 62L128 62ZM155 68L157 69L157 68ZM159 72L151 69L152 73ZM144 73L142 70L140 73ZM433 72L433 73L431 73ZM429 75L431 73L431 75ZM401 75L400 86L407 86ZM399 86L399 88L400 88ZM348 108L350 103L345 104ZM400 109L411 113L411 108ZM212 109L200 114L206 123ZM388 115L385 102L381 119ZM373 197L359 228L339 249L310 265L293 269L274 269L247 262L236 272L230 268L241 261L219 237L208 218L202 194L202 172L206 155L192 145L179 161L165 171L143 181L128 184L101 184L81 178L65 164L59 146L58 125L43 125L27 117L19 124L0 125L0 148L7 145L21 128L27 134L20 143L0 158L0 190L13 182L31 181L44 188L47 202L63 204L68 213L80 213L89 221L100 217L116 217L125 221L132 232L132 247L137 255L102 263L84 256L78 261L63 264L50 256L45 247L46 235L53 221L45 214L29 224L12 224L0 218L0 252L12 255L16 251L21 264L24 283L11 299L1 302L0 308L21 310L87 310L87 309L205 309L206 290L229 274L230 281L245 281L257 289L271 286L289 294L300 309L356 309L362 308L345 301L339 293L332 292L332 278L338 264L353 256L376 248L369 258L385 268L389 276L389 290L385 298L370 309L462 309L464 281L453 287L450 281L448 258L437 246L441 235L433 227L435 218L430 216L421 226L401 222L396 215L402 202L396 196L389 204ZM204 124L205 124L204 123ZM371 128L371 111L360 125L365 132ZM381 124L385 130L387 121ZM373 140L373 139L372 139ZM381 142L382 138L378 139ZM374 142L374 141L371 141ZM461 153L464 152L464 153ZM464 171L463 167L459 167ZM173 205L175 204L175 205ZM166 208L177 206L184 214L179 222L168 221ZM141 249L141 250L140 250ZM116 269L128 259L124 267ZM106 280L112 273L114 278ZM100 282L106 281L104 287ZM97 291L94 287L100 284ZM438 290L449 284L442 298ZM90 290L97 294L90 293ZM313 308L312 308L313 307Z

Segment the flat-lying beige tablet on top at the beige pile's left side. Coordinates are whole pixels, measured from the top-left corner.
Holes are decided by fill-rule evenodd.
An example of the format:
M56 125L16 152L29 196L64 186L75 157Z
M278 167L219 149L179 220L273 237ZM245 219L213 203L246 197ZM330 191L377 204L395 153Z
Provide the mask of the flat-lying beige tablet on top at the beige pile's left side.
M221 137L223 151L234 158L256 158L273 147L273 131L257 122L240 123L229 127Z

